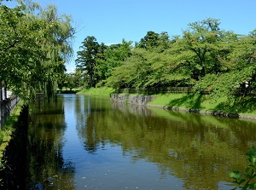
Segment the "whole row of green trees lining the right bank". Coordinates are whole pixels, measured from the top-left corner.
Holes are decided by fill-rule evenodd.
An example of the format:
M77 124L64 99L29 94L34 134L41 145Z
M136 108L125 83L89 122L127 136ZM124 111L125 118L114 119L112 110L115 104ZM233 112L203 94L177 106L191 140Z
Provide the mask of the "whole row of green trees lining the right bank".
M147 32L140 42L106 46L86 37L77 70L89 87L148 89L189 86L195 92L231 95L245 83L255 87L256 30L224 31L219 20L195 21L180 36Z

